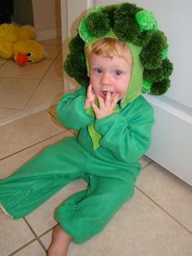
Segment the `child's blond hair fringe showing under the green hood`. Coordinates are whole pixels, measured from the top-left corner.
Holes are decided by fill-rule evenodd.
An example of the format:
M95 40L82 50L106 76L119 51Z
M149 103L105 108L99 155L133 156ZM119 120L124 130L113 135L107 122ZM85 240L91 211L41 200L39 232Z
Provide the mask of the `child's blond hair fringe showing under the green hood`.
M87 46L85 48L87 60L89 60L89 56L92 53L108 58L113 58L114 56L121 57L124 58L127 63L133 60L129 46L116 38L103 38Z

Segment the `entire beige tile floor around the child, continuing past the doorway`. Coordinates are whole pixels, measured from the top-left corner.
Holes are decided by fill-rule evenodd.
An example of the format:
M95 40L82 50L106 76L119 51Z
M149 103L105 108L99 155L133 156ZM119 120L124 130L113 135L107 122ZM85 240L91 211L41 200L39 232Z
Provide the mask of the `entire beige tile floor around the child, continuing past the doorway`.
M46 45L52 59L45 60L39 66L34 65L33 72L27 68L28 76L20 73L11 61L1 62L2 120L14 117L17 111L33 108L35 104L50 104L53 95L62 93L61 49L60 45L53 45L54 42L45 42L52 44ZM10 70L14 73L13 77ZM19 89L12 92L11 86L18 85L20 75L23 79L20 79ZM56 87L51 86L53 83ZM10 99L4 100L1 96L3 84L8 85L4 95L10 93ZM22 86L27 88L25 92ZM44 97L46 90L49 91L48 99ZM24 98L22 96L18 100L15 95L24 95ZM0 179L10 175L41 148L72 135L72 131L57 122L54 104L15 121L7 120L7 124L0 126ZM70 183L20 220L11 220L0 211L0 255L46 255L51 230L56 224L53 218L55 207L64 198L84 188L85 183L81 180ZM72 244L68 255L191 256L192 189L151 159L143 157L142 173L137 179L133 199L123 206L98 236L83 245Z

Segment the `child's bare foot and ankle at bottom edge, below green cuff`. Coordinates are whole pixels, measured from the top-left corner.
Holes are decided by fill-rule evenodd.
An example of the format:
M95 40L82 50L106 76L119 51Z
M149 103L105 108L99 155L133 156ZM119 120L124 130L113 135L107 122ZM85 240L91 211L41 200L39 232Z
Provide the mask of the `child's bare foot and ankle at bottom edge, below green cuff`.
M67 256L68 246L72 241L72 236L66 234L58 224L54 227L52 241L47 250L47 256Z

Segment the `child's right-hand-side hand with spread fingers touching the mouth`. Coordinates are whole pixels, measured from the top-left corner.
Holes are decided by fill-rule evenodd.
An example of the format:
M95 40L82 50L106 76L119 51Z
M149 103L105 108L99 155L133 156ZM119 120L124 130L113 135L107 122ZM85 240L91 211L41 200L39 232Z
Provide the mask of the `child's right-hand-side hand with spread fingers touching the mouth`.
M110 91L107 91L106 99L103 99L100 95L97 95L99 107L94 104L94 101L90 103L94 109L96 119L108 117L115 113L114 108L119 100L119 96L120 95L117 93L114 97L111 97Z

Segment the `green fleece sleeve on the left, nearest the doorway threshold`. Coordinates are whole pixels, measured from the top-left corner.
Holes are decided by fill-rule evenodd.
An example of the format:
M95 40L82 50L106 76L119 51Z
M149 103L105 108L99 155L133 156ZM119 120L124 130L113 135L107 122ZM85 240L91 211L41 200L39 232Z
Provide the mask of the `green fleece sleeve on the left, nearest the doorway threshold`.
M83 87L73 93L63 95L56 109L57 117L63 126L72 130L80 130L94 120L85 113L84 101L85 88Z

